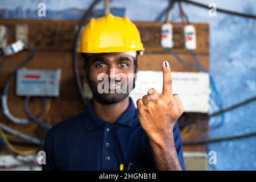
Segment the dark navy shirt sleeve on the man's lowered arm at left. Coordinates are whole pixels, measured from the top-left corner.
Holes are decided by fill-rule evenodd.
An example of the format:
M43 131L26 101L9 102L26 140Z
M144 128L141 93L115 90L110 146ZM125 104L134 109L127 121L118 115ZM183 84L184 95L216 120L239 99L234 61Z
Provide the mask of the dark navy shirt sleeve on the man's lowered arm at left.
M54 140L52 130L48 131L44 142L44 152L46 152L46 164L42 164L43 171L57 170L54 163Z

